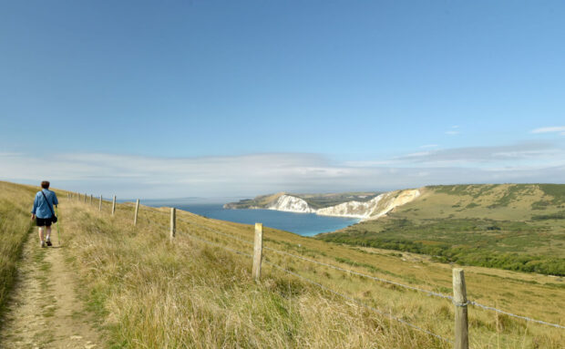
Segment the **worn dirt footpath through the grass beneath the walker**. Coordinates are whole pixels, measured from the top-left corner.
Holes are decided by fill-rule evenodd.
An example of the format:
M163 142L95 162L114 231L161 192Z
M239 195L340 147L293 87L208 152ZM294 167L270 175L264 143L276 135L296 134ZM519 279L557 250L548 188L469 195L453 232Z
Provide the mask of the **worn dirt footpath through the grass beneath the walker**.
M54 227L55 228L55 227ZM39 247L36 229L24 247L18 281L0 323L0 348L103 348L59 247Z

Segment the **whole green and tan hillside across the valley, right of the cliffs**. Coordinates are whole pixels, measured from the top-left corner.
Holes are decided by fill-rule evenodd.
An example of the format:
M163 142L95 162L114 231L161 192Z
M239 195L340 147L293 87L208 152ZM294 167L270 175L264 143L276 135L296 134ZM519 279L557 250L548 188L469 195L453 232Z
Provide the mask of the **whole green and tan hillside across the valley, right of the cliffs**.
M565 275L564 218L565 185L437 186L387 217L321 239Z

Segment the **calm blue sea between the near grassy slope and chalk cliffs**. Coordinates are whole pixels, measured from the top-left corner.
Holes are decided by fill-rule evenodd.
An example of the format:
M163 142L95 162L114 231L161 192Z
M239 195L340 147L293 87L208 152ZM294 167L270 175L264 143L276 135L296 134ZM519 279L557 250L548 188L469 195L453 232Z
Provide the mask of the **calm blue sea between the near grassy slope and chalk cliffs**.
M292 213L279 210L224 210L217 203L174 203L162 200L142 202L154 207L174 207L188 210L200 216L222 221L235 221L243 224L261 222L263 226L292 231L303 236L313 236L321 232L336 231L358 222L358 219L318 216L313 213Z

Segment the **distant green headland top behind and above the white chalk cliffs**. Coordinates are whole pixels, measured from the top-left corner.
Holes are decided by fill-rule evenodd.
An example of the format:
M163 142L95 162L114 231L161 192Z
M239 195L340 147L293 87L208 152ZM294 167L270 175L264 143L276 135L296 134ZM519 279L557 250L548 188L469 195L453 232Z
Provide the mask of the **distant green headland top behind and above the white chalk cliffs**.
M226 208L230 209L249 209L251 207L262 207L265 208L269 206L274 200L279 199L284 192L276 193L276 194L269 194L269 195L261 195L256 197L255 199L245 199L240 200L239 202L231 202L226 204ZM343 192L343 193L330 193L330 194L292 194L288 193L288 195L293 195L297 198L301 198L308 202L308 205L313 209L322 209L324 207L330 207L334 205L338 205L340 203L346 201L368 201L379 193L377 192Z

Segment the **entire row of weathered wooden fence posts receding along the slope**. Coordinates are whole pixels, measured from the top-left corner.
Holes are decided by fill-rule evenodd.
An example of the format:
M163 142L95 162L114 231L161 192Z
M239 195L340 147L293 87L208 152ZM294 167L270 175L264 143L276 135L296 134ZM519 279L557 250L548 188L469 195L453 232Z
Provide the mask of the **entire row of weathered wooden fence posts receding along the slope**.
M80 194L68 193L68 199L72 200L77 195L80 200ZM92 195L90 195L90 204L92 204ZM87 194L85 194L85 203L87 202ZM100 195L98 210L102 210L102 195ZM112 216L116 212L116 195L112 200ZM139 199L136 201L136 208L133 216L133 224L138 224L139 215ZM172 242L177 234L177 209L170 209L170 231L169 238ZM252 260L252 278L259 282L261 279L261 262L262 262L262 223L255 223L255 238L253 240L253 260ZM465 274L463 269L453 269L453 304L455 307L455 341L454 349L468 349L468 320L467 320L467 286L465 284Z

